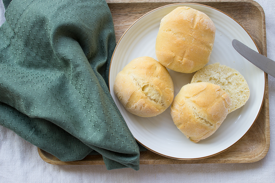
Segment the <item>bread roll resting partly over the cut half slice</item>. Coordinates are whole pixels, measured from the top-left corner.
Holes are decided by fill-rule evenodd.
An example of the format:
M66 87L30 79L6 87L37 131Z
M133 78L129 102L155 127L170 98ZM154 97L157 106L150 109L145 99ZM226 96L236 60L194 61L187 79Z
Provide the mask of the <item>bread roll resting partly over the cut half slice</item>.
M212 135L226 118L230 97L220 86L208 82L184 85L171 105L178 129L192 142Z

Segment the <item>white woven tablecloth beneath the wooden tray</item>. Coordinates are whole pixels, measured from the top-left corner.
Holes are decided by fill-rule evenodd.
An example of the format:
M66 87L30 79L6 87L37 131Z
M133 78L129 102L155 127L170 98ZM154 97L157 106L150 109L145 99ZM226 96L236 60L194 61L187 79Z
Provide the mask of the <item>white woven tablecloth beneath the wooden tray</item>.
M256 0L266 16L267 56L275 60L275 2ZM4 7L0 4L0 24ZM241 164L140 165L106 170L105 165L52 165L43 161L37 147L0 126L0 182L275 182L275 78L268 76L270 148L260 161Z

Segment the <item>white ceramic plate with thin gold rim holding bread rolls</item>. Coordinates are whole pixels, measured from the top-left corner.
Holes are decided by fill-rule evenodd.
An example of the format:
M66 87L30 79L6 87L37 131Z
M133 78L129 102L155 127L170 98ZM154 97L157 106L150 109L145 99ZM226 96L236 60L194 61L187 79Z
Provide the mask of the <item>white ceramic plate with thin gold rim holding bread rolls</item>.
M216 26L215 43L208 64L220 62L238 70L246 79L250 98L246 104L229 113L227 118L210 137L193 143L180 132L170 115L170 107L162 114L142 118L129 113L120 103L113 91L117 73L132 59L141 56L156 58L155 41L161 19L178 6L188 6L207 14ZM237 39L253 50L257 47L234 19L225 13L205 5L180 3L157 8L141 18L125 32L113 54L109 87L112 97L122 113L128 127L138 142L148 149L175 159L200 159L216 155L237 143L251 128L262 106L265 91L265 73L244 59L232 47L232 40ZM168 69L169 70L169 69ZM175 95L180 88L191 82L193 74L183 74L169 70L174 82Z

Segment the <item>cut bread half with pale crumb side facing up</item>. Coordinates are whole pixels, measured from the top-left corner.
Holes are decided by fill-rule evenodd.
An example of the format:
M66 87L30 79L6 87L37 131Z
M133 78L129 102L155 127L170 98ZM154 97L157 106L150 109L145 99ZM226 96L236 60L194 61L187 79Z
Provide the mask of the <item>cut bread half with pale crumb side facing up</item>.
M248 84L241 73L219 63L207 65L196 72L191 83L196 82L210 82L221 86L231 98L229 113L242 107L250 95Z

